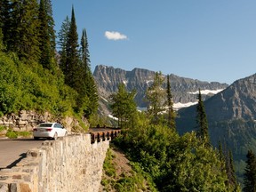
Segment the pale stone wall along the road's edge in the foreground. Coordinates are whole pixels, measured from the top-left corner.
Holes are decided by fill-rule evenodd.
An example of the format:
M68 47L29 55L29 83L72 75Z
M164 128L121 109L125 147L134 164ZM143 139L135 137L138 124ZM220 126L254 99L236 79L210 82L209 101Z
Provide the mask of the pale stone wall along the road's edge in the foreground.
M109 140L90 134L43 142L12 169L0 172L0 192L97 192Z

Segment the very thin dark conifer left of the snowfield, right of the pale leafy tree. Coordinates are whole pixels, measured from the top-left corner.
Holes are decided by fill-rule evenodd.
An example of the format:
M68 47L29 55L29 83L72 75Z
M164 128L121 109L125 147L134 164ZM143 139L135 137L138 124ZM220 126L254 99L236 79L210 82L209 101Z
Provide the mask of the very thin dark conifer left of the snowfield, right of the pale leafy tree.
M167 75L167 106L168 106L168 126L173 130L176 130L175 124L175 112L173 110L173 102L172 102L172 92L171 92L171 84L170 84L170 76Z

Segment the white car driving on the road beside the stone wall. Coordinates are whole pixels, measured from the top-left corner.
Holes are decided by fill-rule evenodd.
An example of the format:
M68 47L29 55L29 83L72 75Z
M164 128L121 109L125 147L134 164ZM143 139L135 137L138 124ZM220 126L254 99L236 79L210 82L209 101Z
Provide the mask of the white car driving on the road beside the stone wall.
M33 129L33 136L35 140L39 138L51 138L57 140L58 137L65 137L68 135L67 129L58 123L43 123Z

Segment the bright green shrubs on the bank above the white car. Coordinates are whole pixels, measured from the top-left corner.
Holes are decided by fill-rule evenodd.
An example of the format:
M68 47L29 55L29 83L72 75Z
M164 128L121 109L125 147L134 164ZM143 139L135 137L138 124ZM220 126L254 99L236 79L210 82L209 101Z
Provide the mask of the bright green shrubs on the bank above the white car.
M64 84L63 76L34 63L28 66L15 54L0 52L0 114L20 109L64 115L76 106L76 92Z

